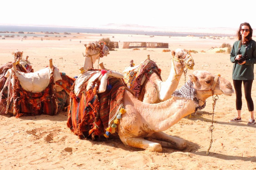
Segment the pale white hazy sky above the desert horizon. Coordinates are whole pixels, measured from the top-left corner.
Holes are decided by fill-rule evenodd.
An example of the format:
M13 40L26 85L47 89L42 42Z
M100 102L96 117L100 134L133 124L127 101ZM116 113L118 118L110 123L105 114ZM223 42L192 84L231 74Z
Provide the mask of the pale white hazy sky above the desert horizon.
M0 24L238 28L249 22L256 28L255 0L3 0L0 4Z

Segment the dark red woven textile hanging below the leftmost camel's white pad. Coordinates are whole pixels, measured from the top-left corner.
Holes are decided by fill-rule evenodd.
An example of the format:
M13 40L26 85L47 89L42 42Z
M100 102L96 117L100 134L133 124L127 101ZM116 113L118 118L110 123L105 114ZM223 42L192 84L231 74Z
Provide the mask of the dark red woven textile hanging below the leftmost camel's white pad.
M0 94L0 105L6 108L5 112L11 112L16 117L40 114L56 115L58 113L58 101L53 76L50 78L49 85L42 92L24 90L14 72L12 73L12 78L14 80L13 84L11 83L11 77L7 78ZM4 114L4 110L1 114Z

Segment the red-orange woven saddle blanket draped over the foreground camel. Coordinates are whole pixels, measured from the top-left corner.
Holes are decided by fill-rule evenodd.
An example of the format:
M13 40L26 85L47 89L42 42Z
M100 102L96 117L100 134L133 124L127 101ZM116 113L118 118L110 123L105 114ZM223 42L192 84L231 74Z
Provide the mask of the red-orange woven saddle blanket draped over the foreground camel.
M93 76L90 75L91 77ZM70 92L71 103L68 114L67 126L80 139L100 136L106 132L110 121L118 113L118 108L123 105L123 95L126 86L121 79L108 78L108 87L105 92L97 93L100 81L95 79L93 86L86 90L87 79L76 96L74 89ZM74 86L73 86L74 87Z

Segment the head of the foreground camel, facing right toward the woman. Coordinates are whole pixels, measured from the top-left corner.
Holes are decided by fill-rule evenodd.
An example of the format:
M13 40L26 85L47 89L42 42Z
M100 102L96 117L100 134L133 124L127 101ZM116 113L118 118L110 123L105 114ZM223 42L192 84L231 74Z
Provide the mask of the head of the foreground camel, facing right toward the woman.
M214 76L207 71L194 71L193 74L189 75L189 79L193 83L198 97L202 96L202 94L206 98L222 94L231 96L234 93L231 83L221 78L220 75Z

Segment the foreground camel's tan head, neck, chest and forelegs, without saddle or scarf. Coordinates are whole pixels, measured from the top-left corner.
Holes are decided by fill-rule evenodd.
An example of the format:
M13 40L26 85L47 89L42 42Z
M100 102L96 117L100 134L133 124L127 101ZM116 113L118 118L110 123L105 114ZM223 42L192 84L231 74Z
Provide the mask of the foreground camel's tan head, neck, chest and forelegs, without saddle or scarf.
M196 101L186 97L172 96L171 99L159 104L145 104L136 100L128 91L124 95L125 114L122 114L117 125L119 138L125 145L162 151L162 146L174 149L185 149L183 139L171 137L162 131L169 129L181 118L194 113L195 109L205 104L205 100L212 95L231 96L234 90L231 83L224 78L214 77L206 71L195 71L189 75L189 80L196 91ZM153 141L144 138L151 137Z

